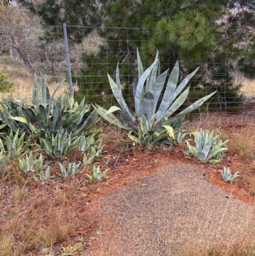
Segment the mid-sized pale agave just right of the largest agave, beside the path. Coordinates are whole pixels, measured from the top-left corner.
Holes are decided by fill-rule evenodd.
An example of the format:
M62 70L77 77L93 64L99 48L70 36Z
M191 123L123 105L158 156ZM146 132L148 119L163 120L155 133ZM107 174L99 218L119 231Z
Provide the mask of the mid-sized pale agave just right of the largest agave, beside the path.
M228 140L222 142L222 140L219 139L219 135L220 133L217 132L217 135L214 137L213 132L209 134L208 131L204 132L201 129L200 132L194 133L196 143L195 147L191 146L191 144L189 144L189 142L186 140L189 150L183 151L184 155L190 159L193 157L198 158L200 162L221 162L222 158L224 157L222 152L228 149L225 147Z

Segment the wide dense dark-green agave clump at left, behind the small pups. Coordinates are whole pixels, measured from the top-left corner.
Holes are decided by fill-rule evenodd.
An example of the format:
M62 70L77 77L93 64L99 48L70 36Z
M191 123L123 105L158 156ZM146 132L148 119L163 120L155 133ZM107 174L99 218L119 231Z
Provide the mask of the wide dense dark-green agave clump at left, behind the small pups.
M80 104L75 102L73 92L66 94L63 98L59 96L54 102L59 86L50 96L46 79L41 75L41 99L39 100L38 82L35 75L33 105L24 105L22 102L16 103L11 100L4 100L1 104L3 109L0 111L1 132L6 132L6 127L8 127L13 132L19 129L20 133L25 132L27 137L33 134L38 138L45 137L46 134L55 135L61 128L74 135L87 132L98 120L98 113L96 110L89 113L91 106L85 104L85 98Z

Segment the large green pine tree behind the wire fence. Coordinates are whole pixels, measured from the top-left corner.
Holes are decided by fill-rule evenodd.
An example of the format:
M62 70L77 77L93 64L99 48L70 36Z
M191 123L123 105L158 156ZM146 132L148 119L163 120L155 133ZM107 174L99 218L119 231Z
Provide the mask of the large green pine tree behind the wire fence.
M102 45L96 54L84 54L85 68L81 75L85 75L85 79L82 76L78 79L81 92L86 93L93 88L101 91L98 98L93 99L91 94L91 100L99 101L103 100L103 96L110 97L106 73L112 75L118 62L122 84L126 84L127 90L130 91L133 76L136 75L135 59L138 47L143 63L152 63L156 51L159 50L163 71L166 68L171 69L179 59L181 80L187 73L201 66L196 79L191 81L190 101L195 96L207 94L215 89L218 93L211 104L212 107L231 109L231 105L236 107L242 101L240 86L234 86L231 73L235 65L244 73L253 71L251 56L254 54L254 1L60 0L58 4L61 9L58 9L59 5L53 0L47 0L45 3L51 4L47 6L47 11L43 9L43 4L34 7L43 24L102 24L99 35L106 35L107 43ZM83 6L98 19L82 17ZM98 6L98 9L95 6ZM54 19L50 13L54 13ZM56 13L64 13L64 19L55 15ZM69 29L72 31L68 34L73 35L73 38L80 39L86 34L83 31L81 33L79 29ZM96 84L98 80L100 83ZM89 82L88 87L85 87L85 82Z

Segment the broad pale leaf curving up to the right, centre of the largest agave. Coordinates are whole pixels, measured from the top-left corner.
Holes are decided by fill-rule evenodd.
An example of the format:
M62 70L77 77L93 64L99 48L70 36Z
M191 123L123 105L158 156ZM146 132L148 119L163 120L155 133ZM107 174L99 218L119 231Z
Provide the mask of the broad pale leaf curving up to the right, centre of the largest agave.
M145 72L143 72L140 79L138 80L138 84L136 87L136 94L135 94L135 110L136 110L136 118L138 119L138 121L140 121L140 119L142 117L143 85L144 85L145 80L149 76L152 68L156 65L156 63L157 63L157 60L154 61L154 63L152 63L150 65L150 67L147 68L147 70L145 70Z

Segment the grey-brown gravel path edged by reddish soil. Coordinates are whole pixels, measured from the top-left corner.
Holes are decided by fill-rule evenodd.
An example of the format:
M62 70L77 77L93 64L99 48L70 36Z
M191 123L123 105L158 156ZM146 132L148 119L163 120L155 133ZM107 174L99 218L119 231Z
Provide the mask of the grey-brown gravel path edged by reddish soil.
M254 206L210 183L203 166L172 164L99 199L96 250L85 255L175 255L184 246L255 244Z

